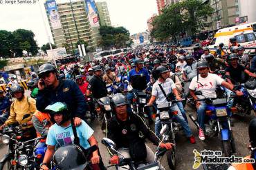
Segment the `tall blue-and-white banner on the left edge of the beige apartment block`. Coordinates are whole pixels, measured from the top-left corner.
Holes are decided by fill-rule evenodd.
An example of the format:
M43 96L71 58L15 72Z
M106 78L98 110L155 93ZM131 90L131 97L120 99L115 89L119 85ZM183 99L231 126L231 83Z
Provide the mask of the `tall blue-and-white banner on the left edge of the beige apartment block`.
M46 8L53 29L55 30L62 28L62 23L60 23L60 15L57 11L57 5L55 0L46 1Z

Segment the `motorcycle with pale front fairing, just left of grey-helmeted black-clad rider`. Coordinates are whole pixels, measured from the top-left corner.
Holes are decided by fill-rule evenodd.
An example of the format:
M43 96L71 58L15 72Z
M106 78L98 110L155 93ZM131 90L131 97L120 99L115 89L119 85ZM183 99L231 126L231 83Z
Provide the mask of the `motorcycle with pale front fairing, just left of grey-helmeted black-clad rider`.
M107 126L107 120L109 120L109 118L112 117L112 109L111 109L111 105L110 105L110 101L111 98L110 97L102 97L98 100L96 100L96 103L99 106L98 112L100 112L100 114L103 114L104 120L102 122L102 130L105 129L105 127Z

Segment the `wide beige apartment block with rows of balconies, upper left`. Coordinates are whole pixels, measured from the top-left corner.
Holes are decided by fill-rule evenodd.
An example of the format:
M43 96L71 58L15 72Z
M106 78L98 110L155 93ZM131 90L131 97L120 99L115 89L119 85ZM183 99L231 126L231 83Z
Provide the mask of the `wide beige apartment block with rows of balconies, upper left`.
M86 2L81 0L55 3L56 8L51 8L53 3L55 3L54 0L46 1L45 8L55 45L68 47L72 51L76 49L75 44L78 40L84 40L88 43L86 49L94 50L100 40L100 33L99 27L93 27L89 21ZM58 16L56 17L53 13ZM60 25L56 27L58 17Z

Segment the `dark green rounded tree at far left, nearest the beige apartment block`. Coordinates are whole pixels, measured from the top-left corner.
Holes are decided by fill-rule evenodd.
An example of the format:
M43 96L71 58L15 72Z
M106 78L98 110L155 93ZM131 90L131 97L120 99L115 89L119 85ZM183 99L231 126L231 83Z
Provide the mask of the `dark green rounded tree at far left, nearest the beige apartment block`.
M22 56L23 50L31 52L33 55L37 54L39 48L34 39L35 34L32 31L18 29L12 32L12 36L14 36L14 42L17 45L14 48L14 52L17 54L17 56Z

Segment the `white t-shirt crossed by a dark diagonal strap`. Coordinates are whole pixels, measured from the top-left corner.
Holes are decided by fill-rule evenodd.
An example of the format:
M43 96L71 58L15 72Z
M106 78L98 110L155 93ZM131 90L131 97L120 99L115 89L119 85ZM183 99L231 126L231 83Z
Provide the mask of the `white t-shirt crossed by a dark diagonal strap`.
M176 88L175 83L171 78L166 78L165 83L156 81L152 87L152 96L156 96L156 103L166 103L167 99L158 84L161 84L165 94L168 95L172 92L172 89Z

